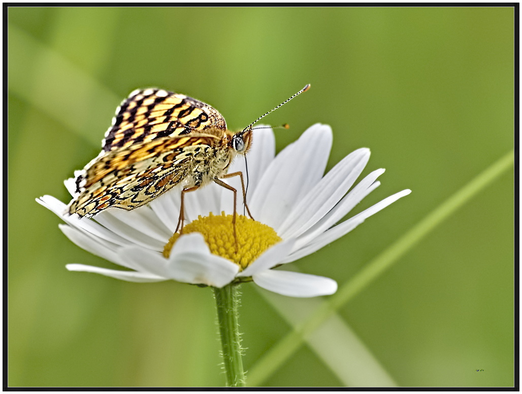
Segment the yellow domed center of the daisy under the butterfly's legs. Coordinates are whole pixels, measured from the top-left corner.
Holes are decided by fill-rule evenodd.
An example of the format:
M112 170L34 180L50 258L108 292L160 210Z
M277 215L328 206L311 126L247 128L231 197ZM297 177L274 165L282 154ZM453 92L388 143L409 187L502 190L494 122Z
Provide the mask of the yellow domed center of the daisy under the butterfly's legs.
M270 226L243 215L236 216L234 238L232 218L232 215L225 215L224 212L219 216L212 213L205 217L198 216L195 221L183 227L183 234L201 233L211 253L238 264L241 270L282 240ZM178 233L170 237L163 248L163 256L170 256L170 251L179 237Z

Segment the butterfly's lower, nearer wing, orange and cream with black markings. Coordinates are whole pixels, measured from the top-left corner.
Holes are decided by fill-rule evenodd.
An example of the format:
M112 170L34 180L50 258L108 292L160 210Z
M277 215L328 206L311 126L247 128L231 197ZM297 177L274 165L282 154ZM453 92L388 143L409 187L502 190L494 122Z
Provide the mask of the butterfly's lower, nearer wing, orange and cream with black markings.
M115 148L94 159L76 179L79 194L69 214L92 217L110 207L133 210L177 184L190 180L193 156L216 137L193 134L163 137Z

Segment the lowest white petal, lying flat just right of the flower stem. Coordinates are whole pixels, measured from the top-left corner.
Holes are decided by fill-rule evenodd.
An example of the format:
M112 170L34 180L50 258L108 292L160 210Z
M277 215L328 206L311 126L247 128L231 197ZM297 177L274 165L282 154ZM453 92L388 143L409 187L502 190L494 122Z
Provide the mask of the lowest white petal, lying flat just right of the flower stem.
M337 291L337 282L333 279L301 272L267 270L252 279L271 292L289 297L316 297Z

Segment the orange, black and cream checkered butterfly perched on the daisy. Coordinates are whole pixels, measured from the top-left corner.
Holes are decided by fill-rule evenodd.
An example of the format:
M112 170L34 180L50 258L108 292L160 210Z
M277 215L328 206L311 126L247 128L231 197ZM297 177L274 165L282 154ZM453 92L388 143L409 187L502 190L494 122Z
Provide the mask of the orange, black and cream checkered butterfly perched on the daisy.
M239 176L245 197L242 173L227 173L232 160L248 152L257 121L309 88L235 133L204 102L163 89L134 90L116 109L100 154L75 171L76 193L68 213L89 218L112 207L133 210L181 186L176 228L181 232L185 193L216 182L234 193L235 219L236 189L221 179Z

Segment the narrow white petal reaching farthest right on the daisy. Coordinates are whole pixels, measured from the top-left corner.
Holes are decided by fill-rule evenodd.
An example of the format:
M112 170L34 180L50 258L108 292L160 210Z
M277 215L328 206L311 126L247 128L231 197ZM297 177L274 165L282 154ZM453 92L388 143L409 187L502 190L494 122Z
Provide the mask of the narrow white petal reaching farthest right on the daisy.
M316 250L321 249L325 245L328 245L330 242L335 241L336 239L342 237L343 235L347 234L349 231L357 227L359 224L364 222L364 220L373 214L381 211L383 208L387 207L388 205L392 204L393 202L397 201L401 197L404 197L405 195L408 195L411 193L411 190L406 189L402 190L398 193L395 193L394 195L390 195L389 197L385 198L384 200L378 202L375 205L372 205L370 208L367 208L367 210L362 211L361 213L351 217L345 222L342 222L338 224L337 226L334 226L330 228L328 231L325 231L325 233L321 234L313 242L310 243L310 245L307 245L301 249L296 250L290 256L284 260L285 263L289 263L291 261L295 261L300 259L301 257L306 256L307 254L313 253Z

